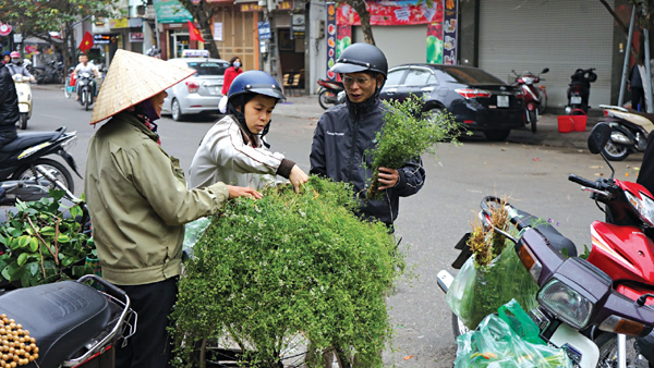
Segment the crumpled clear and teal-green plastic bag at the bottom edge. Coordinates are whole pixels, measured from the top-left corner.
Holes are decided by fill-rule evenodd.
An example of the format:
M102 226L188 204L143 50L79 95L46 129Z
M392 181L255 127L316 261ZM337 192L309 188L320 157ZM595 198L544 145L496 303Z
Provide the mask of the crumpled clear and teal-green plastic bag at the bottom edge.
M516 300L501 307L500 315L502 308L519 316L509 317L506 312L504 317L489 315L477 330L457 338L455 368L572 367L564 349L549 347L538 338L538 328Z

